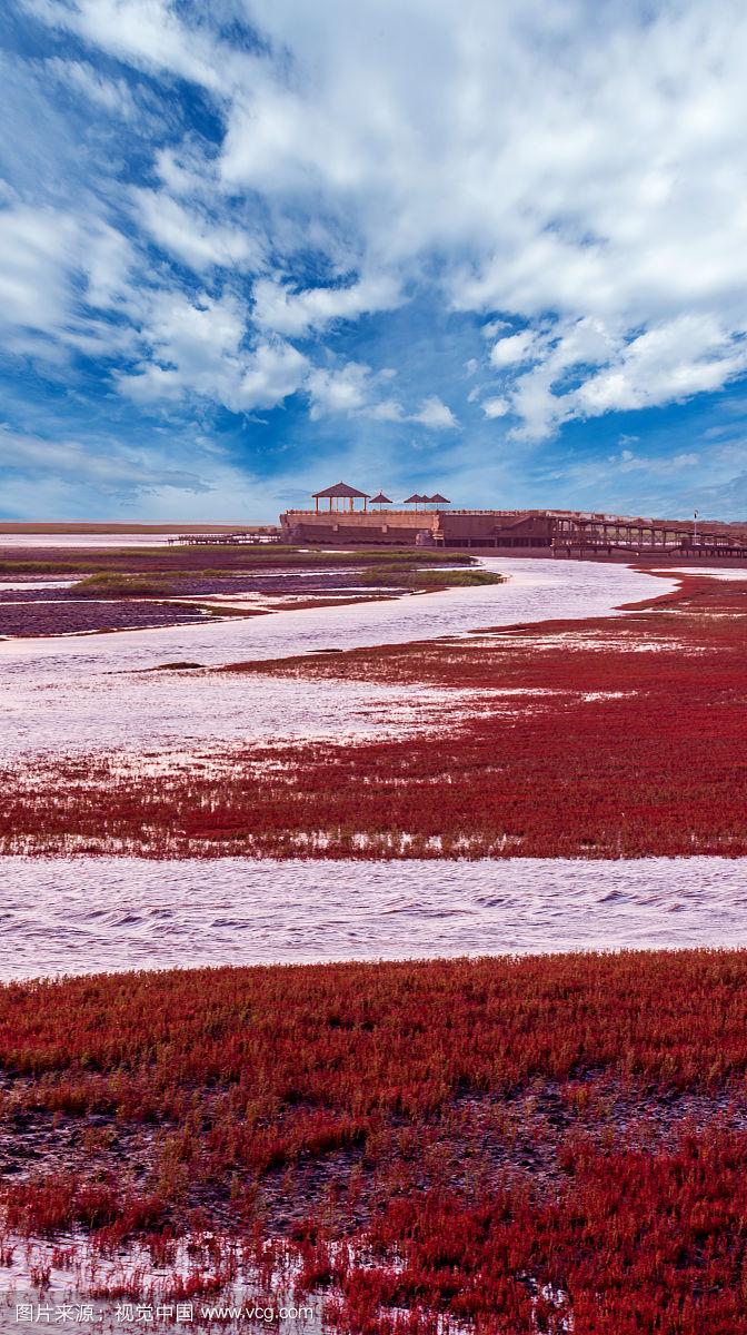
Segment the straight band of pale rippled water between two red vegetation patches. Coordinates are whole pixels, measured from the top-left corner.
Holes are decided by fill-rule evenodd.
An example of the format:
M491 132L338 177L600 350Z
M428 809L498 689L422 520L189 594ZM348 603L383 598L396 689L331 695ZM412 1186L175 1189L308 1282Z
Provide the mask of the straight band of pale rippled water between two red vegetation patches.
M0 977L623 947L747 947L719 857L476 862L0 858Z

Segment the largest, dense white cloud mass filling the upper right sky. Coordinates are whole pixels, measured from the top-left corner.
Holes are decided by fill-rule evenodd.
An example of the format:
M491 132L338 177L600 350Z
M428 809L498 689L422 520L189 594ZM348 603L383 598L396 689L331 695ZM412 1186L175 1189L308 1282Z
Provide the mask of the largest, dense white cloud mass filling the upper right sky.
M731 338L747 326L739 5L706 15L692 0L646 21L615 5L600 24L582 0L552 15L539 0L486 0L464 24L444 3L406 3L384 32L374 4L355 21L341 3L313 21L300 0L256 0L252 13L291 52L292 77L268 69L237 91L223 180L336 218L368 262L412 268L438 254L454 307L502 312L483 330L499 335L494 370L536 360L512 394L526 435L740 374L736 354L683 358L636 394L624 352L680 316ZM528 328L500 336L504 314ZM571 367L586 392L568 390ZM595 383L595 367L607 378Z

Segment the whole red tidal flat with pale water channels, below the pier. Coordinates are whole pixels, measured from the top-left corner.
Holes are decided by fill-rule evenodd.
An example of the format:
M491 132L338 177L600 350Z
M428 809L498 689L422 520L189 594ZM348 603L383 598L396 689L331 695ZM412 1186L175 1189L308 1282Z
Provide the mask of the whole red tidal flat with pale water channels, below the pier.
M747 573L5 557L7 1294L747 1331Z

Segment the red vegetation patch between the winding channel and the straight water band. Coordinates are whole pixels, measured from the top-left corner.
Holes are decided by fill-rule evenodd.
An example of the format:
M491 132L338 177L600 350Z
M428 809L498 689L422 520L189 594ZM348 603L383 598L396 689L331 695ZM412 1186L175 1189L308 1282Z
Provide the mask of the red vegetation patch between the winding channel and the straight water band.
M747 581L687 577L619 618L245 665L233 670L443 688L442 724L247 748L229 774L123 776L105 756L60 762L59 784L48 768L7 772L0 848L744 856L746 647Z

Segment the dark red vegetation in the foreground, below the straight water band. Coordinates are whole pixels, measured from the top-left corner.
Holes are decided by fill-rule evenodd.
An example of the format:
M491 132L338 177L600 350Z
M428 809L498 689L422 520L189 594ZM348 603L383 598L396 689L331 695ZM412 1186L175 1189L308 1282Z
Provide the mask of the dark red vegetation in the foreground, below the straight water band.
M7 1223L285 1235L359 1335L744 1335L746 989L706 951L15 984Z

